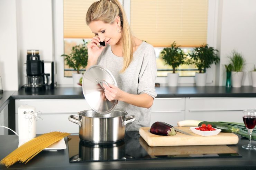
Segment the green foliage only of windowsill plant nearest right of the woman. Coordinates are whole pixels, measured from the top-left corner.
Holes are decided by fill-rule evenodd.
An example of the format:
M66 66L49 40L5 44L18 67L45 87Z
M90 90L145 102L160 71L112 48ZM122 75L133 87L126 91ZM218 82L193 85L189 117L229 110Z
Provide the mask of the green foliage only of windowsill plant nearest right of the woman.
M186 55L181 50L180 46L176 46L175 41L171 44L171 47L164 48L161 54L165 64L172 66L173 73L175 73L177 67L181 64L185 64Z

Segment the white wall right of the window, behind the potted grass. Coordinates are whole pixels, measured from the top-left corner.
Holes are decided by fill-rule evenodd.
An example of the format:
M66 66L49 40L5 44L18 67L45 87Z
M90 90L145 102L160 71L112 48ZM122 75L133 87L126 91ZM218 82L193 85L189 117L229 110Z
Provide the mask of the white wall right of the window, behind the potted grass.
M219 85L225 86L226 70L224 64L229 63L227 56L233 49L243 53L246 59L244 86L252 85L249 71L256 65L256 1L225 0L222 1L221 39L220 39L220 77ZM219 35L220 36L220 35Z

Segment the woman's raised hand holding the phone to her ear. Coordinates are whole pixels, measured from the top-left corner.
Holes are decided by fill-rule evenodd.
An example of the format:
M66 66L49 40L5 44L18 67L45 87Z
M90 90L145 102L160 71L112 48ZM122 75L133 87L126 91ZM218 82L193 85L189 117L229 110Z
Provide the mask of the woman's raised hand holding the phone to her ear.
M88 48L88 64L94 65L97 63L97 60L103 51L103 49L106 47L98 47L100 45L100 39L99 37L93 37L91 42L87 44Z

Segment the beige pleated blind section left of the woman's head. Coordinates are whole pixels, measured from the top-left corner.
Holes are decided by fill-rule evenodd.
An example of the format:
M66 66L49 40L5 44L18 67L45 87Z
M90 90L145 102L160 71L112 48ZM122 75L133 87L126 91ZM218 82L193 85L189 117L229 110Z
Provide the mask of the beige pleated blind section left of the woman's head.
M63 0L64 38L92 38L86 25L86 12L96 0Z

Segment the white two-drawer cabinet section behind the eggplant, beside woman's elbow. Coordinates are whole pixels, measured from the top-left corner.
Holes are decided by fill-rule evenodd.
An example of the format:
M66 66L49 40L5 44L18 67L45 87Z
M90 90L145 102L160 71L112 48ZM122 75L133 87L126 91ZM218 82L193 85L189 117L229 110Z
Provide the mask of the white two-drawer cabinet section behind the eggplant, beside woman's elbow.
M150 126L156 121L177 126L177 122L185 119L185 98L155 98Z

